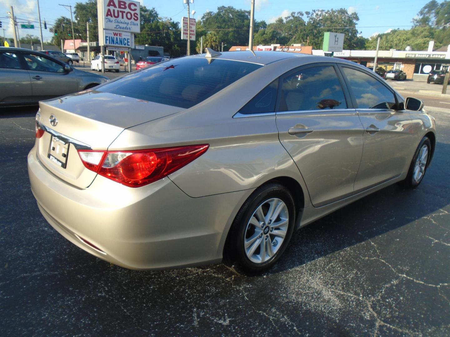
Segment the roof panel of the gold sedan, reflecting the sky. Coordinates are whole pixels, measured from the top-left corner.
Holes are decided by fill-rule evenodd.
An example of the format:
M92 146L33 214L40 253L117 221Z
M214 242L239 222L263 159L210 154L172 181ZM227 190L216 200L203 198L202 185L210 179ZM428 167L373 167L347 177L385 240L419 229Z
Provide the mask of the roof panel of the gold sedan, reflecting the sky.
M197 54L188 56L188 58L204 58L206 54ZM222 60L234 60L242 62L251 62L266 65L272 62L277 62L284 60L286 58L298 58L298 57L308 57L312 55L301 54L301 53L288 53L288 52L274 52L274 51L255 51L241 50L235 52L223 52L218 56L214 56L212 59L222 59Z

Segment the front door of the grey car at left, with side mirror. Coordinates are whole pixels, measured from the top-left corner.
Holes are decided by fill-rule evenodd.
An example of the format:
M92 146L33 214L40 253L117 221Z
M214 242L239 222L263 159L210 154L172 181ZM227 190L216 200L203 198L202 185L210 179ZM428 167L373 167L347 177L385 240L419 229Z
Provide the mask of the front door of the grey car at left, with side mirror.
M23 52L31 77L31 91L34 100L54 98L78 91L78 80L73 71L51 58L36 52Z

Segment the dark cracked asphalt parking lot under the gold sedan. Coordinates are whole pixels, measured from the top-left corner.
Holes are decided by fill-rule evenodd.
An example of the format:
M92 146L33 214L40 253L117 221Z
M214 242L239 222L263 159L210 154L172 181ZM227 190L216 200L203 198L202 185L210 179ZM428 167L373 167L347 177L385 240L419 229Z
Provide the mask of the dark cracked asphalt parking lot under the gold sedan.
M77 248L29 187L37 108L0 110L1 334L450 335L450 100L423 99L438 139L419 188L389 186L300 229L258 277L126 270Z

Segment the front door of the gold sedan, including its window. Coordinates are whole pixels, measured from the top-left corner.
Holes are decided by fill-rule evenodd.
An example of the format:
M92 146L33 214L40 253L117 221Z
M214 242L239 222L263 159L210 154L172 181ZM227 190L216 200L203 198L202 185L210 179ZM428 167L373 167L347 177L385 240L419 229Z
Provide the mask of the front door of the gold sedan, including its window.
M410 147L417 135L410 114L396 110L396 95L383 81L351 66L341 69L365 129L357 192L401 175L410 163Z

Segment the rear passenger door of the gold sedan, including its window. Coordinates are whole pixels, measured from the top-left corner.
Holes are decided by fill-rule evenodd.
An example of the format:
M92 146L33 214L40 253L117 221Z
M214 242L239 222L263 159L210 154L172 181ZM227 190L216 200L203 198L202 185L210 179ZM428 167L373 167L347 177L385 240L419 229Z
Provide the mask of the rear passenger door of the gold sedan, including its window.
M280 78L279 140L306 182L312 204L353 194L363 127L334 63L299 67Z

